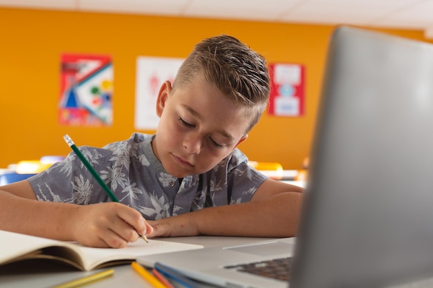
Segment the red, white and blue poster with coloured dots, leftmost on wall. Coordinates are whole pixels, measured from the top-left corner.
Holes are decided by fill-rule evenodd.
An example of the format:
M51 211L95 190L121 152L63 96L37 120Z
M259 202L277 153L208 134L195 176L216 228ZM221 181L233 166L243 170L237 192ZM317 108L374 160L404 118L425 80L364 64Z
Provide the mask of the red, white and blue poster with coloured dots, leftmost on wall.
M61 59L59 124L113 124L113 65L104 55L64 54Z

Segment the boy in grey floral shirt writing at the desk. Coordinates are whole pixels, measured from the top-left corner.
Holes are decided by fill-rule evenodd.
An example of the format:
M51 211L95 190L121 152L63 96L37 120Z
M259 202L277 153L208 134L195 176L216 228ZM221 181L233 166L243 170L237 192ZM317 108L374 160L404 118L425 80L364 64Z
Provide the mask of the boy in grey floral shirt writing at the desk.
M302 189L270 180L236 147L266 108L264 58L234 37L197 44L161 86L155 135L81 147L120 200L109 202L75 153L0 187L0 229L91 247L159 236L294 236Z

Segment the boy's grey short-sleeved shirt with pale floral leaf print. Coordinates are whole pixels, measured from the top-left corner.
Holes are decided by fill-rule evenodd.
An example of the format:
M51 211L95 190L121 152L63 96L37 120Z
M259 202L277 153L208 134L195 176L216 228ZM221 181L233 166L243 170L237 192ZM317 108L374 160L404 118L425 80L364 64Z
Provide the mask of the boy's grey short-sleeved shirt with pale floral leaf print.
M103 148L80 147L119 202L137 209L147 220L248 202L268 179L248 166L239 149L206 173L178 179L167 173L154 155L153 137L133 133L128 140ZM110 201L73 152L28 180L41 201L82 205Z

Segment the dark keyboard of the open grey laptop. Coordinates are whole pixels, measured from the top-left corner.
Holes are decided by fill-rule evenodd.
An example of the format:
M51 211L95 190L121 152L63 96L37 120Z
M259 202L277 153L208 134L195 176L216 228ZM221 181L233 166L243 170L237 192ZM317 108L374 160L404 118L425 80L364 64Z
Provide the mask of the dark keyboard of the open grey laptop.
M225 266L225 269L235 269L239 272L252 273L277 280L288 281L288 271L291 267L292 258L279 258L260 262L251 262L241 265Z

